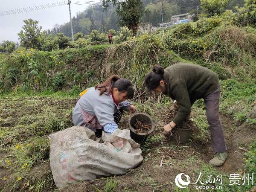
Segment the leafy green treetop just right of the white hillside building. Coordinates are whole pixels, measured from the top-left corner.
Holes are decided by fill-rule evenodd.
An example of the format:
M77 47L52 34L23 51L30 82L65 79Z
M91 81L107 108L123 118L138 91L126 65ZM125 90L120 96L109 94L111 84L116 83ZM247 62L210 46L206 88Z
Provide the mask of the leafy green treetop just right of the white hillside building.
M201 0L201 7L207 13L208 17L221 15L227 6L228 0Z

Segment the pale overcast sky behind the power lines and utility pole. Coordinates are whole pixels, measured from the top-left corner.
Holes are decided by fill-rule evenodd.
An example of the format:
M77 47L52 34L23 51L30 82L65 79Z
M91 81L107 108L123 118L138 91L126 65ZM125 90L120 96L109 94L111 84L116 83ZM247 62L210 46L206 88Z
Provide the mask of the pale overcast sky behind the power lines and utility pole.
M40 6L60 1L63 0L0 0L0 12L31 6ZM71 3L75 3L75 1L76 0L72 0ZM77 12L83 11L87 6L89 6L88 4L84 4L87 1L94 1L97 3L100 0L81 0L82 5L71 4L72 17L76 16ZM63 24L70 20L67 5L0 16L0 42L3 40L18 41L17 33L22 29L23 20L29 18L38 20L38 24L43 27L43 30L52 29L55 23Z

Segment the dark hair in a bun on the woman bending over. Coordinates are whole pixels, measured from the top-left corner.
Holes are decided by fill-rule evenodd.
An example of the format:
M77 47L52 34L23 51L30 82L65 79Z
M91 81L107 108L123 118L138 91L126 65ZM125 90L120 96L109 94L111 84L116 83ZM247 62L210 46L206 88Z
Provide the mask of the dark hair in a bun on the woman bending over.
M161 80L164 80L164 70L159 65L155 65L153 71L145 76L145 85L148 90L156 89Z

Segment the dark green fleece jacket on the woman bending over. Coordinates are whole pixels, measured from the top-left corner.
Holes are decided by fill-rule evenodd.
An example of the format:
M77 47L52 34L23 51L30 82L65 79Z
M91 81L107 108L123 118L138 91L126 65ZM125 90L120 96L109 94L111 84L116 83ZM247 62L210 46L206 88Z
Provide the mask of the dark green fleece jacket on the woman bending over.
M173 119L176 124L186 119L196 99L204 98L218 88L217 74L199 65L177 63L164 71L164 94L175 99L178 104L177 114Z

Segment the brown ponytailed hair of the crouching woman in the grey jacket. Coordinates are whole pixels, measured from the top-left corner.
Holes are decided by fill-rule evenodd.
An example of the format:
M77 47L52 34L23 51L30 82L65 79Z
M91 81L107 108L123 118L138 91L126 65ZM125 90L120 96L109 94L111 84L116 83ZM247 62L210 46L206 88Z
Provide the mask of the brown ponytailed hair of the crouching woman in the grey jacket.
M134 96L134 88L131 81L119 78L115 75L110 76L104 83L98 84L94 88L100 91L99 95L102 95L105 92L109 95L113 92L113 88L117 88L117 90L122 93L127 91L127 99L131 99Z

